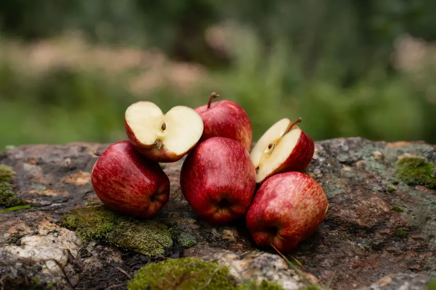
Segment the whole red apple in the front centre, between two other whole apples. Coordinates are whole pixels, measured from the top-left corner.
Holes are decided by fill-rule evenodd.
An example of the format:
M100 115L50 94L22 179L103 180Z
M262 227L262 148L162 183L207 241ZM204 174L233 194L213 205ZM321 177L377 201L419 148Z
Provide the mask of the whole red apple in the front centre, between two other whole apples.
M224 225L250 208L256 170L240 142L212 137L200 142L186 157L180 187L199 217L210 224Z

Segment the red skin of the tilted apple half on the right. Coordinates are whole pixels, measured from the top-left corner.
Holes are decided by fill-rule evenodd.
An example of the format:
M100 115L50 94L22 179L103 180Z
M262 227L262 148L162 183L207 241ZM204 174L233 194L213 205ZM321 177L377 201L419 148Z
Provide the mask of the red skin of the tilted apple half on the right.
M265 178L257 184L261 185L263 182L265 182L265 180L278 173L291 171L304 172L309 166L310 162L312 162L314 153L314 140L312 140L312 138L308 134L301 131L300 138L298 139L292 153L289 154L287 159L282 164L280 164L280 166L276 170L265 176Z

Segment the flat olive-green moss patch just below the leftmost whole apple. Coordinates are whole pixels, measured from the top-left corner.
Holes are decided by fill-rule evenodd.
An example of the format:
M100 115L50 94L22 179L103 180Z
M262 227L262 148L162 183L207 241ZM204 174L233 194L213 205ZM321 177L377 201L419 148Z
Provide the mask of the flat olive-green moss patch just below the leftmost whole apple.
M156 220L136 220L119 215L106 206L77 208L62 217L82 240L96 240L152 257L173 245L173 233Z

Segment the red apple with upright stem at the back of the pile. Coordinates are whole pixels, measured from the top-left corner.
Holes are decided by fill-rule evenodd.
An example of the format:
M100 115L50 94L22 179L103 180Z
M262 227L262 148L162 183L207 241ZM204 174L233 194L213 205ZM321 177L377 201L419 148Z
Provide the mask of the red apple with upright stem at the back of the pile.
M212 137L226 137L237 140L250 151L253 140L253 129L250 118L238 103L231 100L219 100L212 93L207 105L195 109L203 119L204 129L201 135L202 141Z

